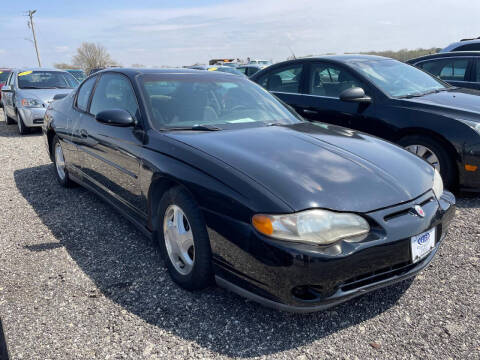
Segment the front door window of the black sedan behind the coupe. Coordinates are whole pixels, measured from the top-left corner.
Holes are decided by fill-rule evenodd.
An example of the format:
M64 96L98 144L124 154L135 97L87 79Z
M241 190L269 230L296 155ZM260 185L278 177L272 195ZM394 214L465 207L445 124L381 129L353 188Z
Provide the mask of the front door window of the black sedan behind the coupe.
M310 72L309 94L339 98L340 93L352 87L361 87L363 83L342 67L329 63L312 64Z

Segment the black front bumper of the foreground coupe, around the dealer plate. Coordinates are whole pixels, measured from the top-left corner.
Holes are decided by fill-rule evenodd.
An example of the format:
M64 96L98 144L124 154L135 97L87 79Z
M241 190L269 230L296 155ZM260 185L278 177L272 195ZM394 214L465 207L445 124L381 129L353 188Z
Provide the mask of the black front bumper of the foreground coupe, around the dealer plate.
M411 212L419 204L424 218ZM414 276L434 257L454 213L453 195L445 192L437 201L430 191L414 201L364 214L372 230L363 241L324 248L274 241L252 229L247 235L245 225L226 221L222 223L227 228L213 230L210 224L216 222L209 214L206 219L219 285L279 310L312 312ZM412 263L411 236L433 227L435 248Z

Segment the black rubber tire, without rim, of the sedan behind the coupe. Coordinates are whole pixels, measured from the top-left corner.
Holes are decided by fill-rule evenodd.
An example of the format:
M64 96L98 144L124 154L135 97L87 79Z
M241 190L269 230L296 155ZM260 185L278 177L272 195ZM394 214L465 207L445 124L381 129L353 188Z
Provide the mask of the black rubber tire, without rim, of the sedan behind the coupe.
M440 175L442 176L444 187L450 190L454 190L456 188L458 177L455 168L455 162L442 143L427 136L412 135L401 139L399 141L399 145L406 149L407 147L420 145L430 150L438 159L438 163L440 165Z

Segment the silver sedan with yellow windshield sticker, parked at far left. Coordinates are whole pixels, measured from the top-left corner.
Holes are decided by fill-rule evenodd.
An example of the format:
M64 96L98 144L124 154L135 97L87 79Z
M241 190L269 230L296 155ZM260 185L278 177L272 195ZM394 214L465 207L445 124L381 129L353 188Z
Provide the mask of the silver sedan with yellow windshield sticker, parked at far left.
M10 73L2 87L3 114L7 125L14 122L20 134L41 127L43 116L55 96L68 94L79 82L59 69L20 69Z

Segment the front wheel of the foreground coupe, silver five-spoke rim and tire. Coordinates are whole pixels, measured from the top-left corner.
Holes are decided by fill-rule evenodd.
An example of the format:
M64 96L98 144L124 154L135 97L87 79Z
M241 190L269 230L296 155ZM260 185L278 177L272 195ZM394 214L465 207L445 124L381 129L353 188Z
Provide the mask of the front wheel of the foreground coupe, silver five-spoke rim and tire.
M171 216L178 209L183 213L176 219ZM201 290L213 283L212 251L207 227L203 215L192 197L181 187L168 190L161 198L157 212L157 240L160 252L171 278L187 290ZM185 222L186 219L186 222ZM189 238L190 241L184 241ZM177 245L173 239L175 234L182 234L185 246ZM173 235L172 235L173 234ZM182 251L188 249L187 251ZM178 255L182 253L183 255ZM183 257L182 257L183 256ZM192 260L190 262L190 260ZM183 264L183 267L182 267Z

